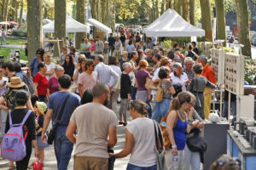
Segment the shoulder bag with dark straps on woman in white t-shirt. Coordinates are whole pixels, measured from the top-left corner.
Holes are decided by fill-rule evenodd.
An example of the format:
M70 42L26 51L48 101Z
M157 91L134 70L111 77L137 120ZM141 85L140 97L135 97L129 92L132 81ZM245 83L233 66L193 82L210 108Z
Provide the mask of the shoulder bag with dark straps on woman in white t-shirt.
M163 138L162 133L160 131L159 125L153 120L154 123L154 139L155 139L155 153L156 153L156 165L157 170L167 170L166 168L166 150L163 147ZM155 125L156 124L156 125ZM158 132L156 131L156 126L158 128Z

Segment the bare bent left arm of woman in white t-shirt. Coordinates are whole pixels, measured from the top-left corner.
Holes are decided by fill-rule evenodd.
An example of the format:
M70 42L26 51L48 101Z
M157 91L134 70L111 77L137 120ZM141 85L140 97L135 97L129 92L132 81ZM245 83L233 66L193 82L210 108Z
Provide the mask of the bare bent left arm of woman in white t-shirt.
M115 154L114 156L116 156L116 158L122 158L125 156L128 156L129 154L131 154L131 151L134 147L134 138L133 135L126 129L125 130L125 148L120 151L118 154Z

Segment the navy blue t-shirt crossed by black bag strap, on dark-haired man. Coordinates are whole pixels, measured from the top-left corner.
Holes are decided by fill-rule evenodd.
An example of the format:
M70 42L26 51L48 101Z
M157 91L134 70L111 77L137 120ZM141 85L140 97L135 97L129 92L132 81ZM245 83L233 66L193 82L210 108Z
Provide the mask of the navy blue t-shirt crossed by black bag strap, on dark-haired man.
M53 110L54 120L56 120L58 115L60 114L61 107L68 94L69 92L55 92L54 94L51 94L49 96L48 109ZM81 99L77 94L71 94L69 96L69 98L67 99L67 103L64 107L64 112L61 116L61 122L59 124L59 127L68 125L73 111L80 105L80 100ZM53 123L53 126L55 126L55 122Z

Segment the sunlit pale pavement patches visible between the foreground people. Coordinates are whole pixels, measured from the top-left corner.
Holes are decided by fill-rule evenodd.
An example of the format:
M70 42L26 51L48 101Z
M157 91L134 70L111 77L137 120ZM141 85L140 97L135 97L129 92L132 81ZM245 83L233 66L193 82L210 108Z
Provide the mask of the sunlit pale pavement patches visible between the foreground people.
M119 105L117 106L117 111L119 111ZM117 114L117 116L118 115L119 114ZM127 117L129 117L128 121L131 121L131 116L129 111L127 111ZM117 127L117 136L118 136L118 143L114 147L114 153L118 153L125 146L125 127L124 126L119 125ZM31 165L33 161L36 161L36 158L34 157L34 152L32 151L32 156L31 156L29 165ZM128 161L129 161L129 156L126 156L125 158L122 158L122 159L117 159L114 163L114 170L125 170ZM49 146L48 148L45 149L44 162L45 162L44 163L45 170L57 169L57 161L55 159L55 150L53 146ZM9 161L3 160L1 157L0 170L7 170L8 167L9 167ZM68 164L68 170L73 170L73 154Z

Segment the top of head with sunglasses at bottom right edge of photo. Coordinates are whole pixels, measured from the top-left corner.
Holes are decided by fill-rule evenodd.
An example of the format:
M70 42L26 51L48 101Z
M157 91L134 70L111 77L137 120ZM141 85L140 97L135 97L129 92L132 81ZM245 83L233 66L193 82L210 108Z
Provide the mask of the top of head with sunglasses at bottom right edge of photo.
M211 170L241 170L241 161L227 155L222 155L211 165Z

